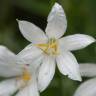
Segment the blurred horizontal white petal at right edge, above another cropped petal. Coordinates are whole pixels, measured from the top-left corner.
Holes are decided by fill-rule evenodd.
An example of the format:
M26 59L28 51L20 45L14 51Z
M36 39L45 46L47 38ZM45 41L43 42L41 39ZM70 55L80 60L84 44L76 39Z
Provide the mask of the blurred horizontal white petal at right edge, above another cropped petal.
M84 77L96 77L96 64L92 63L80 64L80 73Z

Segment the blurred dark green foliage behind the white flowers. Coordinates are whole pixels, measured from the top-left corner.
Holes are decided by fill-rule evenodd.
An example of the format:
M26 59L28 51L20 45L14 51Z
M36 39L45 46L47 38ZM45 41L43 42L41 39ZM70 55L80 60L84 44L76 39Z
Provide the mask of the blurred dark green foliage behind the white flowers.
M48 13L57 0L0 0L0 44L15 53L29 42L21 35L16 19L35 23L43 30ZM65 35L83 33L96 38L96 0L58 0L66 13ZM96 44L73 52L78 62L96 63ZM72 96L80 82L68 79L56 71L52 83L41 96Z

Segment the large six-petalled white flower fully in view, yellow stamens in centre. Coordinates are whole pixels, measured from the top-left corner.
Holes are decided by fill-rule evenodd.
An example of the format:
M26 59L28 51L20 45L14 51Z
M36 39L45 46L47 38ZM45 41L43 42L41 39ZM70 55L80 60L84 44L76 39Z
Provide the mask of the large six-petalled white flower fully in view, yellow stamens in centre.
M23 51L26 50L27 55L33 53L34 60L41 58L42 64L38 76L40 91L43 91L52 80L56 64L62 74L68 75L73 80L81 81L79 65L70 51L84 48L95 41L91 36L82 34L62 37L67 28L67 20L63 8L58 3L53 6L47 21L45 34L36 25L18 20L21 33L32 42ZM34 46L37 48L33 48ZM23 51L18 54L21 58L26 56L22 55L25 54Z

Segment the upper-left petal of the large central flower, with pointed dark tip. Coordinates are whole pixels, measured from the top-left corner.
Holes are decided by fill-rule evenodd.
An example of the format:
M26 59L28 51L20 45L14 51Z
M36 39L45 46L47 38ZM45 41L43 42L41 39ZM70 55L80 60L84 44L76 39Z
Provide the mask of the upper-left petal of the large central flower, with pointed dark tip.
M45 43L47 37L44 32L36 25L27 21L18 21L22 35L32 43Z

